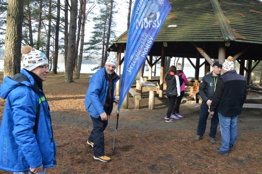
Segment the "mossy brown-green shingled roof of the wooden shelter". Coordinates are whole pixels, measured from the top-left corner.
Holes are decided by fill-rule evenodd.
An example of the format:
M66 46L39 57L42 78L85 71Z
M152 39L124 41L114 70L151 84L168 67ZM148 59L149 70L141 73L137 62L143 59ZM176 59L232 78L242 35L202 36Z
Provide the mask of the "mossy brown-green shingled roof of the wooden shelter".
M172 9L150 52L166 56L196 57L196 42L211 58L217 58L218 43L230 42L227 55L245 49L253 60L262 57L262 3L258 0L169 0ZM128 31L114 40L111 51L126 44Z

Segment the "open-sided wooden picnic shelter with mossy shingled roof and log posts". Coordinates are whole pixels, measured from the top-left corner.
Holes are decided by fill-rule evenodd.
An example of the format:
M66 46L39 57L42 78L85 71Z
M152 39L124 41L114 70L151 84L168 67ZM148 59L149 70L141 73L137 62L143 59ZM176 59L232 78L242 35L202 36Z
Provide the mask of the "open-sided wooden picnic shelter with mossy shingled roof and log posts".
M250 85L252 60L256 65L262 60L262 3L259 0L169 0L171 11L149 52L151 67L153 56L161 56L159 97L163 97L165 57L185 57L195 68L198 84L199 68L209 71L212 59L224 62L233 56L240 64L240 74L248 73ZM128 31L113 41L109 51L117 52L118 67L124 61ZM191 58L196 58L193 64ZM200 58L205 62L200 65ZM248 61L245 67L245 60ZM159 61L159 60L157 60ZM255 66L256 66L255 65ZM150 69L149 69L150 70ZM152 71L151 71L152 72ZM205 72L205 73L206 73ZM152 77L152 75L151 75ZM150 79L150 75L149 75ZM119 95L120 83L116 86Z

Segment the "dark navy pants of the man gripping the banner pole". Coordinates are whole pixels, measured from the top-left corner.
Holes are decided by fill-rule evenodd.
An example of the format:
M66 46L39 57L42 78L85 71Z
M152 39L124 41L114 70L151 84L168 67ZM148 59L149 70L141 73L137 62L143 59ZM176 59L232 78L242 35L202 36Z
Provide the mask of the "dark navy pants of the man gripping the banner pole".
M104 156L104 130L108 124L108 120L103 121L100 116L98 118L90 117L93 122L93 130L88 140L94 143L94 156Z

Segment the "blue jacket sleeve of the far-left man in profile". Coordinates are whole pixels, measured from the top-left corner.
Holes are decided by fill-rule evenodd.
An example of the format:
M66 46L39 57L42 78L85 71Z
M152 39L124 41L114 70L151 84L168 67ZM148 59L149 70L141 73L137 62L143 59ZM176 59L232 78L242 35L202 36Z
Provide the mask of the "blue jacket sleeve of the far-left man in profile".
M13 135L29 166L37 168L42 165L42 155L33 131L38 96L28 87L18 88L9 95L14 121Z

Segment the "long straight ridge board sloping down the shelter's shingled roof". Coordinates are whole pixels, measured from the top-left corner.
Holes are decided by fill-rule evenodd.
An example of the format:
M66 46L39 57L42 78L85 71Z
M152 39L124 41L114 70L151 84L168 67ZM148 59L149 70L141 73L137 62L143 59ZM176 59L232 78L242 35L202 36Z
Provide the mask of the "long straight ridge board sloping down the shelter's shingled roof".
M216 16L216 20L222 32L223 38L225 41L235 41L235 37L231 32L231 29L228 25L226 17L221 9L221 6L217 0L210 0L212 8L214 10L214 14Z

